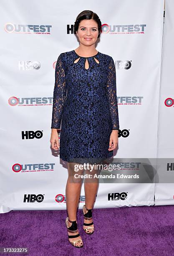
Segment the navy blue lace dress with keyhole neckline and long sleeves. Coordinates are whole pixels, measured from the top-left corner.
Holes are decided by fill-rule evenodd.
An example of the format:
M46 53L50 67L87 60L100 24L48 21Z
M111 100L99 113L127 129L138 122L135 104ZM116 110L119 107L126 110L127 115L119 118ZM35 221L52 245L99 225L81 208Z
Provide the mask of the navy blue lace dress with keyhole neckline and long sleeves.
M61 128L64 161L94 163L113 156L109 139L119 130L119 114L111 56L81 57L74 50L58 56L51 128Z

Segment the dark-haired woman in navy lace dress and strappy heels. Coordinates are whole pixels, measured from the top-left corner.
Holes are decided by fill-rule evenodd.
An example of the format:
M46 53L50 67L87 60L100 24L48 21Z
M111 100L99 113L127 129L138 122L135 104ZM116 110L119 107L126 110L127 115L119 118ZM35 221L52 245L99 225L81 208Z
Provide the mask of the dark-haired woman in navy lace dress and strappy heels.
M60 148L60 158L68 162L66 227L70 243L78 248L83 241L78 233L76 212L81 178L75 178L75 165L101 162L113 156L118 143L119 115L116 97L116 70L113 58L95 48L101 21L90 10L81 12L74 24L80 45L61 53L55 67L51 147ZM62 116L63 115L63 116ZM61 124L62 120L62 124ZM57 129L61 125L60 144ZM96 165L87 170L96 173ZM78 174L82 174L79 170ZM83 230L94 231L92 210L98 180L84 182Z

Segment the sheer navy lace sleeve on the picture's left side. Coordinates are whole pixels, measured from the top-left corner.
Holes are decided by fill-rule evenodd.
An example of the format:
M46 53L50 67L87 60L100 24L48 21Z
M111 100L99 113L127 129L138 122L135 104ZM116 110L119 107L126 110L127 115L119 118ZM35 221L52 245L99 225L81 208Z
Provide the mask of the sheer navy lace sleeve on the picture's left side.
M55 85L53 92L53 112L51 128L59 129L63 114L63 105L66 101L66 77L62 55L58 56L55 66Z

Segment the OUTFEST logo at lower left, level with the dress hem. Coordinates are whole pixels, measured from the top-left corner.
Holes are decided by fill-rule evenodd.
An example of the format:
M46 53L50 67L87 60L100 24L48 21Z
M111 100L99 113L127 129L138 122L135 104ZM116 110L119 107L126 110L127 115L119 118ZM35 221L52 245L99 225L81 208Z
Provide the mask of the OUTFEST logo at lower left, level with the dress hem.
M45 164L18 164L12 166L13 172L48 172L54 171L55 163Z

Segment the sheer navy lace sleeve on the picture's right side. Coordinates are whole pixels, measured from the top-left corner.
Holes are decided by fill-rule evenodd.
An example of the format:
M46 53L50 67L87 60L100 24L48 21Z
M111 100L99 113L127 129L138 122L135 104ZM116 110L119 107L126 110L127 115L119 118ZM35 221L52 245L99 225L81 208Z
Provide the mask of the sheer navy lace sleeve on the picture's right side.
M116 68L112 57L108 69L106 95L111 113L112 130L119 130L119 113L116 95Z

